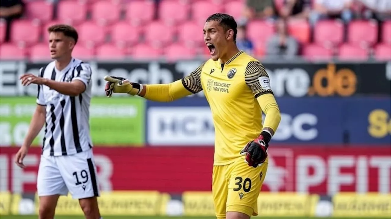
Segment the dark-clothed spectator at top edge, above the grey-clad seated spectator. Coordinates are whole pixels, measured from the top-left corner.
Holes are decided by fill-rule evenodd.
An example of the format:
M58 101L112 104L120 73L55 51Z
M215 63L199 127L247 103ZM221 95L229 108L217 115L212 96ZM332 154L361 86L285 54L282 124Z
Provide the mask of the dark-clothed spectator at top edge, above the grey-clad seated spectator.
M307 19L311 11L311 0L284 0L284 4L278 11L282 18Z

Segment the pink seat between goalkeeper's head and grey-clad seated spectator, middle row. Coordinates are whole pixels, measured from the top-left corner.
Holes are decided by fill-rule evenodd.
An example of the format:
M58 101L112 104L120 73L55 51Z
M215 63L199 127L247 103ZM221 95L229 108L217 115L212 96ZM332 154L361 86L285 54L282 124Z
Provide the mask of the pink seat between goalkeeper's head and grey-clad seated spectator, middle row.
M247 25L247 36L252 41L266 42L274 34L274 25L270 22L254 20Z

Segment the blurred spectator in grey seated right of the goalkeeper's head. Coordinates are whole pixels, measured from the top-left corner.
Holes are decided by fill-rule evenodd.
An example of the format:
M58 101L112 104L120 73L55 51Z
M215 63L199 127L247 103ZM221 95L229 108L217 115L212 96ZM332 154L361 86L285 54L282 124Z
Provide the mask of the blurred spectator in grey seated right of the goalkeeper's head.
M287 22L285 19L280 18L276 22L276 34L271 36L267 42L266 54L268 56L281 56L289 59L296 57L298 50L298 41L289 36Z

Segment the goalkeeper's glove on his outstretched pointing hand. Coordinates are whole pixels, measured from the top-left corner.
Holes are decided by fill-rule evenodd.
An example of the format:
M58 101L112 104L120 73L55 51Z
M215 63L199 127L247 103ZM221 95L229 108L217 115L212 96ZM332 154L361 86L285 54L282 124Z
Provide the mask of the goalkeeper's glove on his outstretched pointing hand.
M130 95L138 95L142 91L142 85L139 83L131 83L124 77L104 76L104 80L108 81L104 87L107 97L111 97L113 93L129 93Z

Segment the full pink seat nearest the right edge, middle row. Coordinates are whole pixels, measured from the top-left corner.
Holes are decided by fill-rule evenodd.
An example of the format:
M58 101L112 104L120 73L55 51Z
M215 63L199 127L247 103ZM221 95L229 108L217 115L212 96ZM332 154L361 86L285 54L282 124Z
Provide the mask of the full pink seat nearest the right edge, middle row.
M366 20L353 20L348 26L348 43L373 45L377 41L377 23Z

